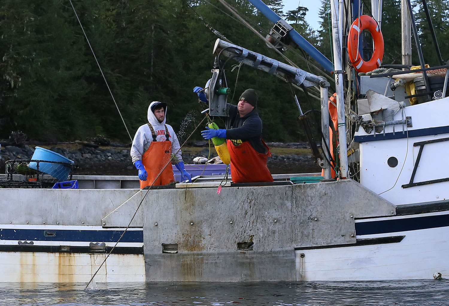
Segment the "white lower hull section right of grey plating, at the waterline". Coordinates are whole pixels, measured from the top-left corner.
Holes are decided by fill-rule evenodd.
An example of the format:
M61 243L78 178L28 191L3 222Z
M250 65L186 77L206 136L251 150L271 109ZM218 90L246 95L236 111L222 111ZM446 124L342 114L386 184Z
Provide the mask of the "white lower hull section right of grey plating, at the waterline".
M389 233L399 243L296 251L298 280L431 279L449 276L449 227ZM304 258L300 254L304 253Z

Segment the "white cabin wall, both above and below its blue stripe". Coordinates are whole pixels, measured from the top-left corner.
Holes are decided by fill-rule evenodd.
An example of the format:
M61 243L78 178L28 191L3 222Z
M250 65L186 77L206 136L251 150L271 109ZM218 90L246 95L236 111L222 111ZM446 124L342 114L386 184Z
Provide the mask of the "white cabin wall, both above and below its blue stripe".
M425 131L430 127L449 126L446 114L449 114L449 98L407 106L394 119L411 116L413 127L406 131ZM392 126L385 129L386 133L392 131ZM402 134L401 125L395 126L395 133ZM356 136L366 135L369 134L362 128L356 133ZM418 156L419 146L414 146L414 143L447 137L448 133L382 140L383 133L376 133L376 140L360 143L360 183L395 205L448 199L449 182L402 188L402 185L409 184ZM449 141L425 144L414 182L449 177L448 152ZM392 156L398 160L394 168L387 164L388 158Z

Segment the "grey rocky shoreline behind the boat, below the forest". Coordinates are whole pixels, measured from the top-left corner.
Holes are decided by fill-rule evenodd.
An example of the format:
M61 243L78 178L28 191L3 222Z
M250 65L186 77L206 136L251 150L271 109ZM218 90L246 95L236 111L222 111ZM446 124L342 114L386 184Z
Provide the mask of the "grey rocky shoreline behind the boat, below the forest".
M39 144L25 144L21 147L5 145L0 149L0 173L5 173L5 162L12 159L31 159L35 146ZM90 146L90 144L53 144L39 145L59 153L75 162L75 175L137 175L137 170L132 165L129 155L130 148L127 145L120 146ZM193 144L198 146L201 144ZM270 148L304 148L304 144L269 144ZM283 145L283 146L282 146ZM95 147L96 146L96 147ZM272 149L274 150L274 149ZM182 157L185 163L193 164L194 157L215 157L215 151L209 153L209 147L197 147L196 153L189 153L188 149L183 151ZM307 173L318 172L320 168L316 165L313 157L309 154L272 154L268 159L268 167L273 174L280 173Z

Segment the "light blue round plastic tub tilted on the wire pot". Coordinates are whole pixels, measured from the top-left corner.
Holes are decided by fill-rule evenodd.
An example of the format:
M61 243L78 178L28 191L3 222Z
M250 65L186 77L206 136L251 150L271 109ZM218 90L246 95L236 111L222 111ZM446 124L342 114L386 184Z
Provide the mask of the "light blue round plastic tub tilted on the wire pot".
M61 154L58 154L56 152L41 147L36 147L31 159L38 161L49 161L49 162L40 162L39 171L53 176L60 182L66 181L68 179L71 168L63 164L55 164L50 162L70 162L72 164L75 163L74 161L68 159L67 157L62 156ZM30 162L28 168L38 170L37 163Z

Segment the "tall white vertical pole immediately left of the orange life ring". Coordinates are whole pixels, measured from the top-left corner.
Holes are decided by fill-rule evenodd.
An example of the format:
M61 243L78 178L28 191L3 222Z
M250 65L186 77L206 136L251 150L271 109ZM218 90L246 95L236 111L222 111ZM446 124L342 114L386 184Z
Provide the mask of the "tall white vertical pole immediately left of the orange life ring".
M334 76L335 76L335 92L337 94L337 114L338 114L338 135L339 135L339 155L340 155L340 177L346 179L348 177L348 148L346 145L346 117L344 111L344 95L343 95L343 61L341 54L342 35L339 29L338 18L339 0L330 1L330 10L332 13L332 47L334 49Z

